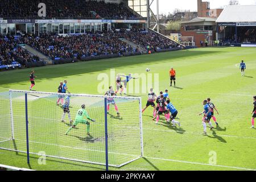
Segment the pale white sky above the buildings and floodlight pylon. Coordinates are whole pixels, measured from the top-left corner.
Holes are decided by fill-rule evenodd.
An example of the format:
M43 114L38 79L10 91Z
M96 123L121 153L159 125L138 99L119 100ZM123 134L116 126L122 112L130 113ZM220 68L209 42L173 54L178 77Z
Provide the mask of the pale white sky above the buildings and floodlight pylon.
M210 2L210 9L224 7L229 0L203 0ZM256 5L256 0L238 0L240 5ZM151 9L156 13L156 0L152 3ZM175 9L197 11L197 0L159 0L159 13L172 13Z

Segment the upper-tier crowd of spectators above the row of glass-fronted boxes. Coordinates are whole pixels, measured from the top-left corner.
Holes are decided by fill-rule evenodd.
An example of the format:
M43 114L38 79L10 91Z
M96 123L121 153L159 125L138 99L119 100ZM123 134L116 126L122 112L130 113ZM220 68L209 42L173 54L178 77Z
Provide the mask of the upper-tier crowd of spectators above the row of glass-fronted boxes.
M39 3L46 4L47 18L137 18L123 3L85 0L1 0L0 17L38 16Z

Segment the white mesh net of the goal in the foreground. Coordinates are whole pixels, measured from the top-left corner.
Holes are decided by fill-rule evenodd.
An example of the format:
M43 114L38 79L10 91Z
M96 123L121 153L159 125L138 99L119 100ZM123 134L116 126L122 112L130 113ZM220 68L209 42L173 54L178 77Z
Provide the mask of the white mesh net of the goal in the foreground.
M96 120L84 118L90 123L90 135L88 123L77 124L65 135L72 125L67 108L62 122L64 109L56 101L63 98L65 105L67 97L73 123L83 104L89 117ZM0 93L0 149L112 167L141 158L141 98L113 97L117 107L107 98L22 90Z

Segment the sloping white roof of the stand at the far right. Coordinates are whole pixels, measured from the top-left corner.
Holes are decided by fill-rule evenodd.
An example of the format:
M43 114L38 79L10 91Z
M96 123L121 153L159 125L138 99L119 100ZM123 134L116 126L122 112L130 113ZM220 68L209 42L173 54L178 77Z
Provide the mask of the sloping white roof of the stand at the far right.
M240 23L256 22L256 5L230 5L226 6L218 19L217 23Z

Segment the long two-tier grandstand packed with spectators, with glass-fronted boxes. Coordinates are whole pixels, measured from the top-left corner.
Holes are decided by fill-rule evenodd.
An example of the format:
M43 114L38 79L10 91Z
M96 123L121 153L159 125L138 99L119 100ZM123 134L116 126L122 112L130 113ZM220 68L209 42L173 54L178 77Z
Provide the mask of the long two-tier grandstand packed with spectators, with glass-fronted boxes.
M1 69L180 49L147 29L146 18L128 1L45 0L45 16L39 15L39 3L0 2L0 38L9 43L1 47Z

